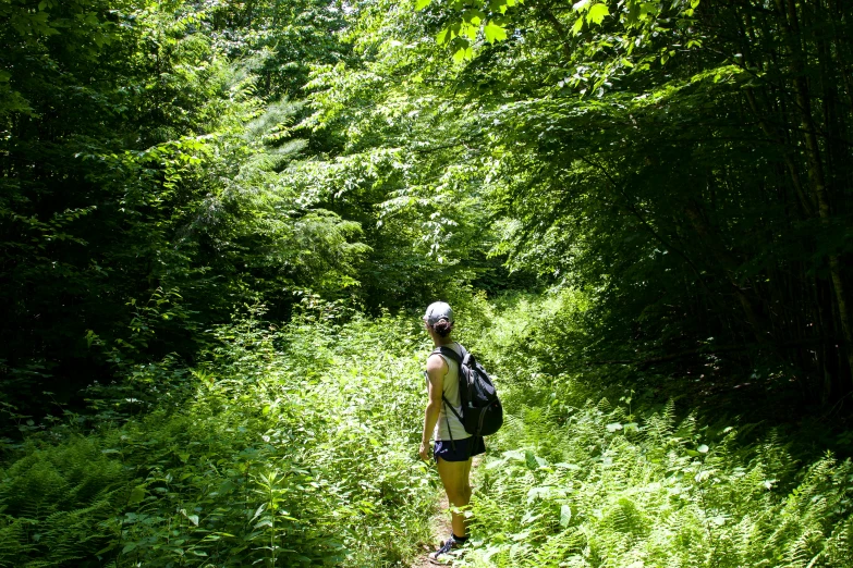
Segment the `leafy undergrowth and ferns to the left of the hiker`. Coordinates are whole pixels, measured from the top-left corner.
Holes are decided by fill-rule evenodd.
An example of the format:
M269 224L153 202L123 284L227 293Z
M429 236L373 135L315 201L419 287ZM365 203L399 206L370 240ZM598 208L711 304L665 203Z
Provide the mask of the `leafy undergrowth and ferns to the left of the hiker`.
M141 370L93 429L8 445L0 566L404 565L437 493L414 452L425 337L334 321L221 328L208 362Z

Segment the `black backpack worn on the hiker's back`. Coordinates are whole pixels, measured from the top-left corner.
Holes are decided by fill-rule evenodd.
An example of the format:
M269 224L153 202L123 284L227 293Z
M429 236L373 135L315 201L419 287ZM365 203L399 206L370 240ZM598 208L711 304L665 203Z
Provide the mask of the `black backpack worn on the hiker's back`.
M450 357L459 363L459 394L462 398L462 416L459 416L453 405L444 398L443 393L441 399L462 422L465 432L473 436L493 434L503 424L503 407L498 398L498 392L486 369L462 345L460 348L462 357L450 347L439 347L432 353Z

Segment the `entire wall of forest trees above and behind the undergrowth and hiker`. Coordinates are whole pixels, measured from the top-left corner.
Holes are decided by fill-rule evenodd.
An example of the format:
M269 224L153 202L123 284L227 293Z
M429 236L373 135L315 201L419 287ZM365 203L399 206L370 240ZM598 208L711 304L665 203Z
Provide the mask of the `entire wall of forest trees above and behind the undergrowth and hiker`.
M436 298L511 324L522 345L462 333L520 405L571 384L850 455L851 18L838 0L0 1L7 462L58 424L85 440L246 376L241 357L328 369L342 329L404 358L419 344L392 314Z

